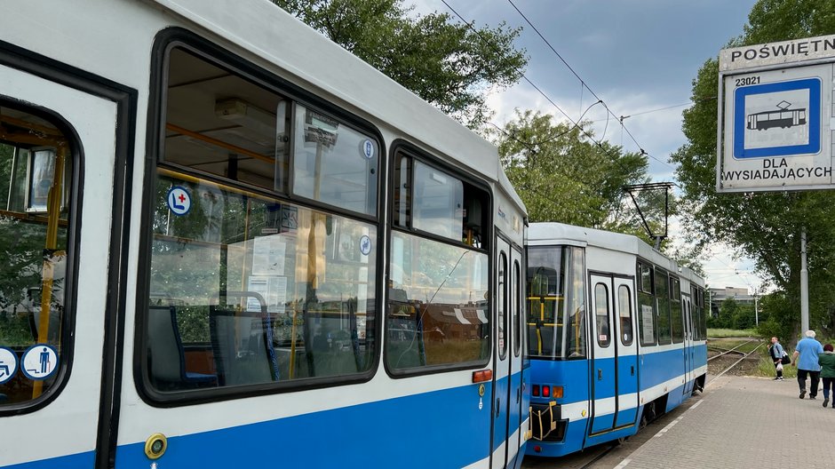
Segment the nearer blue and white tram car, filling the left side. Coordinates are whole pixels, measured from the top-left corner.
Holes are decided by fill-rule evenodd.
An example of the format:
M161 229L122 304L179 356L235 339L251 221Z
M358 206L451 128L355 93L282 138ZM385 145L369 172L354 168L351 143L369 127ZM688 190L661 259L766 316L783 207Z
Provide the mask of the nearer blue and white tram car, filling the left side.
M517 467L495 147L262 0L0 4L0 467Z

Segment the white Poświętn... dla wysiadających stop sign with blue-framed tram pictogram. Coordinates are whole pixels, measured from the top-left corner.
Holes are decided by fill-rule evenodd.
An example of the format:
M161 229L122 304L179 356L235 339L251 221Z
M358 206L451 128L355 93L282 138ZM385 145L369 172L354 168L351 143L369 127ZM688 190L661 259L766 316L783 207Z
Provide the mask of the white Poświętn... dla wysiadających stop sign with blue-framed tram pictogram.
M835 188L835 35L723 49L718 192Z

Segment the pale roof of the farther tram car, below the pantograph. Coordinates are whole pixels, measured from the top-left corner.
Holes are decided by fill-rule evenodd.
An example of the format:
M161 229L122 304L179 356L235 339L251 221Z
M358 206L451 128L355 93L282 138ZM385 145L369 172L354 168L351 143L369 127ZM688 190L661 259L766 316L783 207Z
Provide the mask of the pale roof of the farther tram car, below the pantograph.
M664 267L672 273L696 280L704 284L704 279L686 266L679 266L675 260L666 257L638 236L613 233L595 228L576 227L564 223L541 222L531 223L528 228L528 243L530 245L546 245L568 243L579 246L593 246L597 248L616 250L634 254L645 258L656 266Z

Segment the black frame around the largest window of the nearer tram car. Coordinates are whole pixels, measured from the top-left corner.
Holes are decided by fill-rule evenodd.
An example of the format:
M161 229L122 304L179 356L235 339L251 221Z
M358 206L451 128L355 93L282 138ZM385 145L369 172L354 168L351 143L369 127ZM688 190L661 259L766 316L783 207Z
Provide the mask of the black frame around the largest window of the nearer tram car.
M269 71L266 68L261 68L250 60L230 52L218 44L212 43L210 40L198 36L193 32L184 28L167 28L159 32L153 44L152 60L151 60L151 80L148 96L148 113L147 113L147 139L146 148L147 156L145 158L145 179L143 181L143 195L142 195L142 211L140 222L140 242L139 251L142 253L150 252L153 243L154 235L151 229L151 221L153 219L153 201L155 197L156 181L158 180L157 169L167 169L183 175L194 177L195 179L204 180L211 184L218 184L220 186L234 187L236 190L248 192L253 195L258 195L266 200L276 200L282 203L297 205L304 207L311 211L318 211L323 213L330 213L344 217L346 219L354 219L364 223L369 223L376 227L377 237L372 240L376 250L375 269L377 278L376 285L373 291L375 301L383 298L382 274L384 272L384 256L382 251L383 241L385 239L385 227L382 225L381 207L385 195L381 194L386 185L383 179L378 178L377 187L377 207L373 216L362 214L360 212L348 211L346 209L322 203L313 199L308 199L303 196L294 195L292 191L292 164L293 157L290 154L288 167L288 180L285 191L269 190L265 187L257 187L247 184L242 181L231 179L224 179L216 174L211 174L205 171L195 170L187 166L177 163L166 162L163 160L164 155L164 115L166 113L167 103L167 86L168 86L168 60L171 50L180 48L186 52L191 53L195 57L209 62L211 65L219 68L224 68L229 73L235 74L240 78L247 80L266 91L271 91L286 97L290 102L295 102L303 105L315 112L329 115L337 119L340 123L349 124L357 131L362 131L371 138L376 139L380 148L378 155L378 171L380 174L386 173L387 160L382 156L383 148L386 147L386 141L382 137L382 133L378 128L362 119L362 117L350 114L346 109L340 107L338 102L332 102L327 99L320 98L314 91L307 91L296 84L290 83L289 80L281 76L285 73L279 70L278 66L274 66L275 72ZM322 92L322 94L324 94ZM292 137L290 137L292 138ZM377 339L374 344L374 349L370 359L369 370L359 373L342 376L329 376L322 378L304 378L292 381L274 381L266 383L258 383L244 386L226 386L213 387L199 390L175 391L175 392L160 392L155 389L148 378L147 360L145 359L144 351L147 349L147 333L145 332L147 324L147 308L150 306L149 295L150 290L150 271L151 258L147 256L143 262L139 263L137 279L137 299L136 299L136 319L134 331L134 349L133 362L134 370L133 377L137 387L137 392L143 401L148 405L157 408L171 408L182 407L188 405L199 404L211 401L227 401L235 399L243 399L251 396L293 393L307 389L318 389L333 386L346 386L351 384L363 383L370 381L374 377L381 360L382 341ZM382 312L375 310L376 320L374 324L373 333L376 338L380 337L382 330L381 321L379 321Z

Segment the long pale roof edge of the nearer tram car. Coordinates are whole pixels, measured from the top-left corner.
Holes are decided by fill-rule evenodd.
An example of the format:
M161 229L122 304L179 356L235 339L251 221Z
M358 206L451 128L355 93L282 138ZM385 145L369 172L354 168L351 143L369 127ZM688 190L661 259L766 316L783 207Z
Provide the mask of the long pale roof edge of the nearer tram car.
M460 162L497 183L524 208L504 177L497 147L278 6L266 0L147 1L409 134L426 147L451 155L455 158L451 163Z

